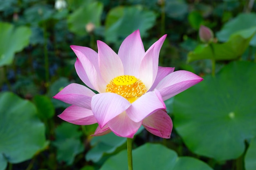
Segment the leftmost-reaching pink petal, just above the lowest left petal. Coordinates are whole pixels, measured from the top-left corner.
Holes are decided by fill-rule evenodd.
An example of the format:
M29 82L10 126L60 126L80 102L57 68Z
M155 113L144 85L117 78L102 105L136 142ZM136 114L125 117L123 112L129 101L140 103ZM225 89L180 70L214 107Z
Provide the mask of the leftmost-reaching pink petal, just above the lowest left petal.
M81 84L72 83L63 88L53 98L68 104L90 109L92 96L94 95L95 93L89 88Z

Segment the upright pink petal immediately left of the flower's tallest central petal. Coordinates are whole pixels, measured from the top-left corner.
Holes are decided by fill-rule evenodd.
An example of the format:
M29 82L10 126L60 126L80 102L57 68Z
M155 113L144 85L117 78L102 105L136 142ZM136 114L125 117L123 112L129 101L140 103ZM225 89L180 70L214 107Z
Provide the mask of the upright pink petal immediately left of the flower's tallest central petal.
M124 75L124 67L119 56L104 42L97 41L99 69L102 78L109 83L113 78Z

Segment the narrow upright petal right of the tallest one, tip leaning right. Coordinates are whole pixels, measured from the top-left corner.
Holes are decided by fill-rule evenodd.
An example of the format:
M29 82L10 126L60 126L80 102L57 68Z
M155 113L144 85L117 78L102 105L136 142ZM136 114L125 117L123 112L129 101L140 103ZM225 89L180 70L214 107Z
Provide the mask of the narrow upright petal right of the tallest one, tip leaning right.
M165 38L166 35L162 36L157 42L150 46L141 61L139 79L145 84L147 90L151 88L157 76L159 53Z

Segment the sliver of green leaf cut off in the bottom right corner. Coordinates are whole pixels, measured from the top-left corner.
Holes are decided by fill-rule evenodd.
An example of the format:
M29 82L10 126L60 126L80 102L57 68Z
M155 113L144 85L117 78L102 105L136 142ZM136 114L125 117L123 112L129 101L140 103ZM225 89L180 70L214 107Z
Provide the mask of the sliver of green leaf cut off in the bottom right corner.
M255 170L256 167L256 138L251 140L249 148L245 155L245 169Z

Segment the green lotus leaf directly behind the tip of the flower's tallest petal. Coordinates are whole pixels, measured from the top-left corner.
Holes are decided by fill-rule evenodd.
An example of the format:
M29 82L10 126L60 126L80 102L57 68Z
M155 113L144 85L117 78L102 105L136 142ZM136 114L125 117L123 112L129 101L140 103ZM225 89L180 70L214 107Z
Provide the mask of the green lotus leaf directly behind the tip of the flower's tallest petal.
M131 32L139 29L141 37L154 26L156 14L141 6L116 7L109 11L106 18L105 38L108 42L124 40Z

